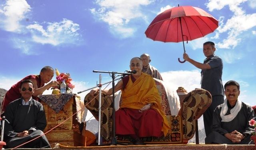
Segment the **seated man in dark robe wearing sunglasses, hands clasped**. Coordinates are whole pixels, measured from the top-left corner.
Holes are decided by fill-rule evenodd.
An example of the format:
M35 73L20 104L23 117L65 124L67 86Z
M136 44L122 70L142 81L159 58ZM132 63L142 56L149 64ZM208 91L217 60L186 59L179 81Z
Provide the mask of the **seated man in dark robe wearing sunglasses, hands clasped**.
M34 86L31 80L22 80L19 88L21 97L10 102L6 107L4 140L6 148L15 148L38 136L40 138L24 144L19 148L50 148L42 132L46 127L46 116L42 104L32 98Z

